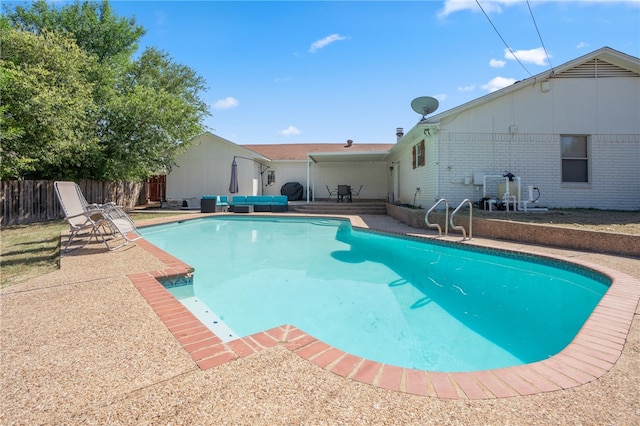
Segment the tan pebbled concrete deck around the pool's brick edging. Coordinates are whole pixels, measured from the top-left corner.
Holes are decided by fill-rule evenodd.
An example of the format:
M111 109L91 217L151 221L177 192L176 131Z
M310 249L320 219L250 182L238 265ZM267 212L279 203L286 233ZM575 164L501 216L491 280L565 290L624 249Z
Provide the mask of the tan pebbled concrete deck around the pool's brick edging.
M373 229L433 235L388 216L353 220L356 225ZM215 363L215 367L202 370L185 350L184 342L181 344L174 336L180 333L180 326L165 325L156 313L157 306L154 310L129 279L133 277L136 282L136 277L149 275L150 271L180 272L183 265L172 263L170 258L158 258L145 249L145 242L115 252L107 252L104 245L90 244L64 255L59 271L3 289L0 423L632 424L637 421L640 260L487 239L474 238L469 243L557 256L616 275L624 284L620 287L621 294L607 308L609 313L598 313L607 317L600 325L610 324L591 333L591 337L600 333L615 339L608 339L611 344L604 350L601 346L592 347L593 357L574 352L577 361L556 365L556 372L561 373L558 380L564 377L566 382L556 383L555 389L540 392L544 390L540 386L555 382L542 371L534 373L525 380L525 385L531 388L543 380L539 387L533 386L538 392L529 392L531 395L526 395L527 391L518 392L513 377L495 375L488 379L448 378L444 386L455 395L439 393L442 383L438 378L422 387L426 396L407 393L413 386L407 372L400 379L393 374L395 378L388 379L392 385L385 386L384 371L379 371L373 379L376 386L371 386L355 377L363 363L354 371L348 366L354 360L335 357L325 364L329 368L323 368L320 364L326 360L314 363L318 358L313 356L307 360L281 343L283 336L272 339L275 344L268 343L268 339L263 341L264 345L256 342L260 350L252 350L249 356L233 357L231 362ZM618 319L616 311L626 313L626 324ZM178 328L172 328L174 325ZM630 329L628 335L620 331L625 328ZM296 333L296 329L285 327L282 333ZM593 339L582 346L591 347L591 343ZM576 368L578 365L582 368ZM341 375L347 370L347 374ZM578 383L581 378L586 384Z

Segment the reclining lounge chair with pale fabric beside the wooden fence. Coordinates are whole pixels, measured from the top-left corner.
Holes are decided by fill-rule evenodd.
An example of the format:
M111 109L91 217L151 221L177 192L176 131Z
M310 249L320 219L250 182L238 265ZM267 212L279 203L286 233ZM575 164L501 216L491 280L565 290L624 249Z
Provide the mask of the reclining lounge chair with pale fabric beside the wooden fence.
M82 248L94 237L96 241L102 240L109 250L115 250L142 238L142 234L122 207L113 202L89 204L75 182L58 181L54 183L54 187L71 230L64 252ZM89 231L89 239L81 246L70 249L69 246L82 231ZM109 245L109 240L116 239L122 241L115 246Z

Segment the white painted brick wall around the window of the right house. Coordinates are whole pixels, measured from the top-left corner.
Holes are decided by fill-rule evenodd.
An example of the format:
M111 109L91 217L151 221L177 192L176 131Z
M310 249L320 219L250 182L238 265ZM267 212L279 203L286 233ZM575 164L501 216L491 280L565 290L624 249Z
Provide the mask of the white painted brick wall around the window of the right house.
M559 135L441 133L440 196L451 204L478 200L482 188L465 185L465 177L510 171L520 176L523 197L528 185L540 189L540 205L640 210L640 136L597 135L590 147L591 182L563 184Z

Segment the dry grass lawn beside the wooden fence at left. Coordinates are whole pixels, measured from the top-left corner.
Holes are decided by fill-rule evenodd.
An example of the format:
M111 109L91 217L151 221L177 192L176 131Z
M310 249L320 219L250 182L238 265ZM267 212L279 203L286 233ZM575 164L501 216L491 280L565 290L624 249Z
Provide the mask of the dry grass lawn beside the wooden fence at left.
M136 213L135 221L167 217L166 213ZM60 267L60 233L64 220L3 227L0 230L0 288L28 281Z

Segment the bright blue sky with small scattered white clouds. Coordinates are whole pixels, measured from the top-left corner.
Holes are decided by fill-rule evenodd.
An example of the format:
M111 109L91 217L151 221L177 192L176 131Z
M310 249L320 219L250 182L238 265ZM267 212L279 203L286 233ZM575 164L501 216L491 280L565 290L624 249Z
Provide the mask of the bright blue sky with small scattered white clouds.
M206 124L238 144L394 143L416 97L443 112L603 46L640 57L640 0L111 4L206 79Z

